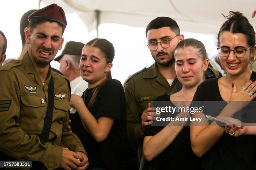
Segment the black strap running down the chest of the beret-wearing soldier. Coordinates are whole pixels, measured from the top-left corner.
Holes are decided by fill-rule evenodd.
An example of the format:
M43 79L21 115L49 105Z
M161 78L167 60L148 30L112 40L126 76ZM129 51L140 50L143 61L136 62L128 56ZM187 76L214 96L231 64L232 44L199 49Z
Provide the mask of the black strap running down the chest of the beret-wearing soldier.
M40 141L46 143L49 139L51 123L52 123L52 113L54 107L54 82L51 77L48 85L48 102L47 102L47 111L44 117L44 127L40 135Z

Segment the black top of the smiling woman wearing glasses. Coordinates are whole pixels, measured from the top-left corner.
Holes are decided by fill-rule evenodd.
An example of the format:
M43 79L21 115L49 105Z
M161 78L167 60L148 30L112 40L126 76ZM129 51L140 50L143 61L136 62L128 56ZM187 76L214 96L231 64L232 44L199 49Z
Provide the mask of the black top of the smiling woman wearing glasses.
M251 75L252 79L256 80L255 72ZM218 78L202 82L197 87L193 100L224 101L220 95ZM220 111L225 105L219 106L221 107ZM249 104L247 107L252 106ZM206 112L204 113L207 115ZM202 167L205 170L256 170L256 135L233 137L224 133L220 140L203 156Z

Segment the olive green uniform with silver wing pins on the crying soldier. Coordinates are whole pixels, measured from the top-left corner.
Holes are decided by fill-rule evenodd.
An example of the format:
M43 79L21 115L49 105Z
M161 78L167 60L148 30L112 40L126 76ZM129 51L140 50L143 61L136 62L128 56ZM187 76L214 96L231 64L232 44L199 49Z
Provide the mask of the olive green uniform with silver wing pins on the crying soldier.
M0 151L16 160L39 161L47 169L55 169L60 166L63 147L86 152L79 138L67 129L70 109L67 80L49 70L43 85L28 53L23 60L13 60L0 68ZM49 141L42 143L39 135L51 77L54 80L52 125Z

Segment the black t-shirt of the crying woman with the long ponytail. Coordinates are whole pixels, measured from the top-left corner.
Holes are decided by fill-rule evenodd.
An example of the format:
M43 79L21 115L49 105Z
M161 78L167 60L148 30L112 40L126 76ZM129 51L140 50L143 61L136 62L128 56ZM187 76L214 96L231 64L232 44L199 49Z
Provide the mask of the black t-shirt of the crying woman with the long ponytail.
M85 90L82 95L86 106L95 88ZM118 80L107 80L100 88L94 104L88 109L96 119L101 116L115 118L108 137L102 142L97 142L84 129L78 113L70 114L72 131L82 141L88 154L88 169L100 167L119 170L122 166L126 136L125 95L122 84Z

